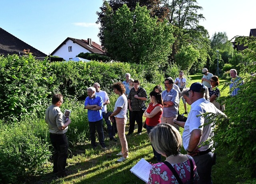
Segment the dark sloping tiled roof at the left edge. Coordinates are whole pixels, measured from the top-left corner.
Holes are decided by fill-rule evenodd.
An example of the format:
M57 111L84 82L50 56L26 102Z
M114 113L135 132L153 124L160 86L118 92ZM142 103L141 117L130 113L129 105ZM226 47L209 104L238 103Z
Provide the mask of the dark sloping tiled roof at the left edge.
M28 52L32 53L36 59L43 60L47 56L0 27L0 55L7 56L8 54L17 54L22 56L26 55Z

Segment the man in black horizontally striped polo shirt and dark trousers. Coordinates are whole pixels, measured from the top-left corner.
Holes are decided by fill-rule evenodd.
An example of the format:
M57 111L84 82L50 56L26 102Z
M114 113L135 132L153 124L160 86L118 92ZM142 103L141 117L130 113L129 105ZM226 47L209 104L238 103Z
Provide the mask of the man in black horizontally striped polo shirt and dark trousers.
M144 111L142 110L142 106L144 101L147 100L146 90L140 87L140 81L134 80L134 87L130 90L128 96L128 104L129 109L131 111L130 115L130 127L127 135L132 135L134 131L135 121L138 124L138 135L142 132L142 116Z

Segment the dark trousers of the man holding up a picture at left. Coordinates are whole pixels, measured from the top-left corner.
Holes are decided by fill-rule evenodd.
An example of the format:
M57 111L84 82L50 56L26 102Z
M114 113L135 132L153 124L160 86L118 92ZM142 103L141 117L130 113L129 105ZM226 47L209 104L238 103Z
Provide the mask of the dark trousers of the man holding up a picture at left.
M68 139L66 133L50 133L50 140L54 148L52 155L53 172L63 174L66 171L65 168L68 158Z

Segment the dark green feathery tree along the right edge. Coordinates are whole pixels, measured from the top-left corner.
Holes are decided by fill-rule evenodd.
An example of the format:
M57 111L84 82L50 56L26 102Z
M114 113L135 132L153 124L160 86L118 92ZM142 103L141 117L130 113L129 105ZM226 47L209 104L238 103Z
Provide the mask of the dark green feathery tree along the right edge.
M236 42L248 46L248 49L241 52L248 62L244 70L246 71L244 74L245 82L240 86L236 98L232 96L226 98L225 114L229 121L220 122L218 132L214 137L218 141L219 149L226 148L229 150L230 161L238 162L243 173L241 176L248 178L248 181L250 178L254 178L255 183L256 76L250 76L247 72L256 70L254 64L256 37L238 37Z

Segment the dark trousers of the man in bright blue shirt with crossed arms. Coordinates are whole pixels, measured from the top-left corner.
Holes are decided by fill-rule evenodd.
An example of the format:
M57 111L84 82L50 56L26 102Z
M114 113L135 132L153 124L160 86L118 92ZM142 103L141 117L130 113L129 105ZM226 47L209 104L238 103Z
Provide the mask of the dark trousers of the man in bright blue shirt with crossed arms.
M103 118L99 121L89 121L89 128L90 128L90 138L92 145L95 145L96 138L95 138L95 132L97 128L98 136L99 136L99 142L100 144L104 143L104 132L103 132Z

